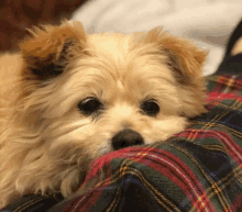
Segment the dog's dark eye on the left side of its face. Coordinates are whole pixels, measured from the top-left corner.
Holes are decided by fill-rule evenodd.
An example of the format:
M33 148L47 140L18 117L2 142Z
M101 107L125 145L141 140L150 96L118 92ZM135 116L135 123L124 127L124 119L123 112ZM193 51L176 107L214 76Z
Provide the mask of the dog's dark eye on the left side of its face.
M102 103L96 98L87 98L78 103L78 109L85 114L90 115L98 112Z

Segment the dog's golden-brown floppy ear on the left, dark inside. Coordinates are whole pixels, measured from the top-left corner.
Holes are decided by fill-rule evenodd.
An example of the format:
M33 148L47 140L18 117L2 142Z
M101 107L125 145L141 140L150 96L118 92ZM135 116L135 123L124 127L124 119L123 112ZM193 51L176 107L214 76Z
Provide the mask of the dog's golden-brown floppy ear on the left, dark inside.
M24 79L45 80L63 72L76 49L85 47L86 34L80 22L63 22L29 30L31 36L20 43Z

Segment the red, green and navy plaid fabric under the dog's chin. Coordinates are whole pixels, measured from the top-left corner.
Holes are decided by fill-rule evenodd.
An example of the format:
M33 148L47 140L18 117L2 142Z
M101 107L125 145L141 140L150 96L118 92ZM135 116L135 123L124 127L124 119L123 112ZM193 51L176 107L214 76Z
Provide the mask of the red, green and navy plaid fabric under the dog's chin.
M207 83L209 112L182 133L95 160L70 200L33 197L3 211L242 211L242 76Z

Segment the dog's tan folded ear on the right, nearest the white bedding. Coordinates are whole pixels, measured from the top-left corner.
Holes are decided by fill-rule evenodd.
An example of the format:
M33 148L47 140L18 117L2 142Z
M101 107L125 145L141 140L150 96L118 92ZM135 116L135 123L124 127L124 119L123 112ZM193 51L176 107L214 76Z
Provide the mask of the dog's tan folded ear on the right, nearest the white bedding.
M202 76L208 53L198 48L191 41L163 32L162 27L150 31L145 40L156 43L161 52L168 56L167 65L174 70L179 82L188 83L190 77Z

